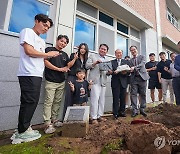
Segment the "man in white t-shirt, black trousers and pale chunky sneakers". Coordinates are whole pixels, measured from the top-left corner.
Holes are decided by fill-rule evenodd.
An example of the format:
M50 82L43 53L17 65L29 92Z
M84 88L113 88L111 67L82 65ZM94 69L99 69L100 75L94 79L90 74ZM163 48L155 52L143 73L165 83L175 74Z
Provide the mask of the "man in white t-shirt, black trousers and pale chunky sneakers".
M45 41L39 36L48 31L53 22L48 16L35 16L32 29L25 28L20 32L20 62L18 79L21 89L18 131L11 137L12 144L33 141L41 137L37 130L32 130L31 119L37 107L41 81L44 71L44 58L55 57L59 52L45 53Z

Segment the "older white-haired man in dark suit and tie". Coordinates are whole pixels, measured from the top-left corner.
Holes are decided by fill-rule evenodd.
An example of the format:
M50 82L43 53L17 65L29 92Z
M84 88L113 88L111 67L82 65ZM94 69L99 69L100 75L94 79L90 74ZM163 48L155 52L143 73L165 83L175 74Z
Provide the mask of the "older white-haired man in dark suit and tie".
M128 73L127 71L118 72L117 67L120 65L128 64L127 60L122 59L123 51L117 49L115 51L116 59L111 61L112 71L110 74L111 78L111 87L113 94L113 115L117 119L120 117L125 117L125 98L126 98L126 88L128 85Z

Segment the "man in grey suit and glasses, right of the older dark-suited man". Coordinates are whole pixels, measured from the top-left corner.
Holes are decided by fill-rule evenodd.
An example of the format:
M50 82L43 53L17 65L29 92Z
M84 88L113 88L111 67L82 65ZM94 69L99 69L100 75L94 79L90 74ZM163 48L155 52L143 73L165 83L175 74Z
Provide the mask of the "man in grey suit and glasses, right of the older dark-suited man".
M146 108L146 84L149 75L145 68L145 57L138 55L137 47L131 46L130 52L133 58L130 59L131 66L131 104L132 104L132 117L138 115L137 94L140 96L140 114L147 116L144 109Z

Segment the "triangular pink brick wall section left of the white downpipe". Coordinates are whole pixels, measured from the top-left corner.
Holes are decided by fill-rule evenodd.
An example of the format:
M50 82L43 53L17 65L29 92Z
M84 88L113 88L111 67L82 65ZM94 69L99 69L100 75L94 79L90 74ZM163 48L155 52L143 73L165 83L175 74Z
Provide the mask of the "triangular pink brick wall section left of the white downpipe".
M141 16L153 23L153 28L156 29L156 14L154 0L122 0L126 5L131 7Z

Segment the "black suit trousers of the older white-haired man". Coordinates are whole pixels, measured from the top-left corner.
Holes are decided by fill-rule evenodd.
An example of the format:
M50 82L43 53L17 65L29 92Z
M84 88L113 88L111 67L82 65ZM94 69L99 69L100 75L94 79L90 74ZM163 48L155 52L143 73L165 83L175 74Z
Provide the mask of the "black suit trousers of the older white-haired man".
M116 88L112 88L113 95L113 115L119 115L119 113L125 112L125 98L126 88L123 88L121 83Z

